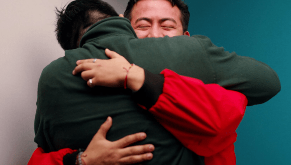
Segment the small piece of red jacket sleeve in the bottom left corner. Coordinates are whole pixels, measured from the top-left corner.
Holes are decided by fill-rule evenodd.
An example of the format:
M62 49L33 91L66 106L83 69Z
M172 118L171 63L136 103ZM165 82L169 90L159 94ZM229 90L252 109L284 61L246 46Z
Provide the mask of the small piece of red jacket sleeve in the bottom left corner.
M61 149L57 152L45 153L43 149L39 147L33 152L28 165L63 165L64 156L76 151L77 150Z

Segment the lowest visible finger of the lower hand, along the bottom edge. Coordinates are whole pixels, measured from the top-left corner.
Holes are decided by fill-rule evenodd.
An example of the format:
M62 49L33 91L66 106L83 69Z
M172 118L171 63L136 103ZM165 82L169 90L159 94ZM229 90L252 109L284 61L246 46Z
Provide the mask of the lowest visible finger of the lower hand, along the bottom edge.
M129 156L129 157L124 157L120 159L120 164L121 165L131 165L131 164L136 164L140 163L143 161L149 161L153 159L153 154L152 153L146 153L142 155L134 155L134 156Z

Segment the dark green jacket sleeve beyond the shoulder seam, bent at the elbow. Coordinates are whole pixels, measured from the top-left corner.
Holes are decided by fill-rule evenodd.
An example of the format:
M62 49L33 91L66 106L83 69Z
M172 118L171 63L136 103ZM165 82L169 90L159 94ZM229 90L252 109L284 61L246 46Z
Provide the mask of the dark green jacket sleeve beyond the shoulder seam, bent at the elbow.
M197 38L215 71L215 83L246 95L248 106L264 103L281 90L278 75L267 64L224 51L223 47L216 47L207 37Z

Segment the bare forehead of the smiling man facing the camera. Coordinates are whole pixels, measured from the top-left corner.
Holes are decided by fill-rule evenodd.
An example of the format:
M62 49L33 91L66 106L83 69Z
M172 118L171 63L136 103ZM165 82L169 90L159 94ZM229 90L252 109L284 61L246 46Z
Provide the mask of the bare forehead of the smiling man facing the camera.
M168 0L139 0L134 4L131 11L131 21L140 17L151 19L173 18L181 23L181 11Z

